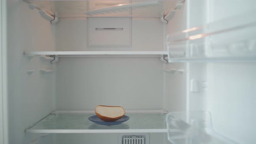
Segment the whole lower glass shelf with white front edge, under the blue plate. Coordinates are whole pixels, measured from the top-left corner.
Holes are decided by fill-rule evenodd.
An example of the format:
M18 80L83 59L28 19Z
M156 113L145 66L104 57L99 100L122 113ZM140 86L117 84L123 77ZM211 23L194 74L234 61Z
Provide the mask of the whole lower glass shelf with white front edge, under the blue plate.
M130 119L122 124L105 126L95 124L88 118L94 113L52 113L39 121L27 133L140 133L167 132L165 111L126 113Z

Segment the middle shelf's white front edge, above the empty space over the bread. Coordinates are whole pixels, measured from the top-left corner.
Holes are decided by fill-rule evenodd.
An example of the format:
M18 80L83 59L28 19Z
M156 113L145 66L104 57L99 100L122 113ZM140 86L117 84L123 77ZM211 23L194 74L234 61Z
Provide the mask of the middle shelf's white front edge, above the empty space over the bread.
M97 56L131 56L131 57L162 57L167 51L35 51L24 52L26 56L59 56L59 57L97 57Z

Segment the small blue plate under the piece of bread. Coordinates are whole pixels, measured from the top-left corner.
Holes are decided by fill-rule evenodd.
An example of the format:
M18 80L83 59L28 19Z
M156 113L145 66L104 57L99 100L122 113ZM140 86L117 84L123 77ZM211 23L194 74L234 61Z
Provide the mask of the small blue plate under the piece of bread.
M97 115L93 115L88 118L90 121L95 122L96 124L101 124L101 125L117 125L121 124L125 121L128 121L130 119L128 116L124 115L122 118L120 118L117 121L103 121L97 117Z

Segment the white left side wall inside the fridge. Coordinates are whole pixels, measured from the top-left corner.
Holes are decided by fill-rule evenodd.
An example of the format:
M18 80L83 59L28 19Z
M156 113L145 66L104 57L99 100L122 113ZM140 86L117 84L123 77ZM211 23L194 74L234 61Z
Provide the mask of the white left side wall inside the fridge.
M25 129L53 110L55 74L42 75L39 69L55 65L27 59L23 51L54 51L54 30L23 0L8 0L7 9L9 143L28 144L32 137L26 139ZM35 72L28 75L28 69Z

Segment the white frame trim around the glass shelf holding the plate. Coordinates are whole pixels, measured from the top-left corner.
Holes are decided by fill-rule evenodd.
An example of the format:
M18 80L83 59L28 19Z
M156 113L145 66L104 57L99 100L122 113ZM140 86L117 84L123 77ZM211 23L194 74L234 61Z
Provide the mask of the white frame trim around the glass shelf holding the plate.
M128 113L162 113L167 114L167 111L164 110L148 110L148 111L125 111ZM92 114L95 113L95 111L53 111L50 114ZM50 115L49 114L49 115ZM47 115L48 116L48 115ZM46 116L46 117L47 117ZM44 117L44 118L46 118ZM44 118L42 118L40 121L42 121ZM40 121L36 122L35 124L31 125L30 128L32 128L34 125L39 123ZM92 134L92 133L167 133L167 128L164 129L95 129L95 130L89 130L89 129L26 129L26 133L41 133L41 134Z

